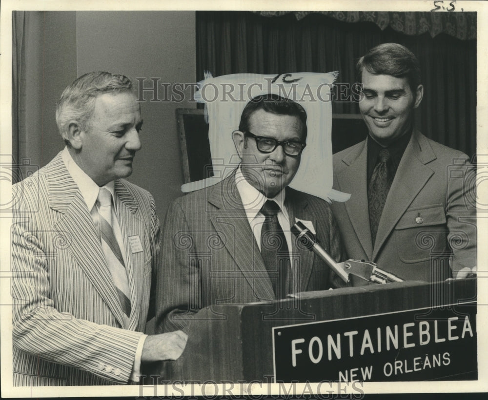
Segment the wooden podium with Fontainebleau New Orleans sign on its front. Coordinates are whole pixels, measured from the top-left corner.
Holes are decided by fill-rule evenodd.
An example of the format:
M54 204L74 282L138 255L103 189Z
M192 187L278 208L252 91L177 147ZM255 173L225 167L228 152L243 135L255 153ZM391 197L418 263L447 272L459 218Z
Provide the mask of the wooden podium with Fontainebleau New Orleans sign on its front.
M325 321L330 323L320 323ZM302 333L291 332L288 336L298 339L286 342L290 325ZM282 337L285 345L277 346ZM290 351L298 365L289 362ZM196 314L182 357L163 364L157 372L163 372L163 381L292 381L294 374L297 381L303 381L300 376L363 380L360 368L368 377L369 365L370 381L477 379L476 279L305 292L272 304L212 305ZM279 369L284 378L275 376Z

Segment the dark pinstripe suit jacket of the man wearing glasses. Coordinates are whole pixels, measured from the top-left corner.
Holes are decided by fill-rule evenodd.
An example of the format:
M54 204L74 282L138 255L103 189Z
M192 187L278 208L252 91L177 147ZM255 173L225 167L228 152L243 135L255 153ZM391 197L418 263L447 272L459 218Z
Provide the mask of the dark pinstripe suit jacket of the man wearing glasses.
M344 259L328 203L286 188L285 207L290 226L295 218L311 221L321 245L337 261ZM295 238L292 254L294 291L335 286L330 268ZM235 174L171 204L163 231L163 268L156 288L159 331L187 330L185 320L208 305L276 299L235 184Z

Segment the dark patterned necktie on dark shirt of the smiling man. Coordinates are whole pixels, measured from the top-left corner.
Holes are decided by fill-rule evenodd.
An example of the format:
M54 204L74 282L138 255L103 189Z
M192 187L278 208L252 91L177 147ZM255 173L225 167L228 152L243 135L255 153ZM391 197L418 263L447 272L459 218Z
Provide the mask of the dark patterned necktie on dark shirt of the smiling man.
M390 153L388 149L381 149L378 154L378 162L374 167L367 190L369 206L369 226L371 228L371 240L376 240L376 233L380 223L381 213L385 207L386 196L391 186L391 178L388 171Z

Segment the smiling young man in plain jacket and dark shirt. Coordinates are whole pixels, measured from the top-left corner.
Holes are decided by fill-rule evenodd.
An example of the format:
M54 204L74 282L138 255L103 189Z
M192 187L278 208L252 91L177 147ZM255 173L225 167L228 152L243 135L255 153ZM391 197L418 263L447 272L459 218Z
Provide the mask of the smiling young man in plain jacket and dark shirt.
M418 60L386 43L357 69L369 135L333 157L334 189L351 193L332 205L348 257L406 280L466 276L476 266L475 171L466 154L413 127L424 95Z

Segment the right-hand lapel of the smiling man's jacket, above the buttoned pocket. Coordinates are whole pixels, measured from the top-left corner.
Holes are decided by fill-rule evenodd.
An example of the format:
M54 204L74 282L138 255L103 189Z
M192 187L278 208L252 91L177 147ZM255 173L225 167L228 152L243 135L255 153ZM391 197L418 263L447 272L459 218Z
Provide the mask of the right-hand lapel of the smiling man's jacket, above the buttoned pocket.
M391 230L434 173L425 164L436 158L425 136L414 131L400 161L381 214L372 260Z

